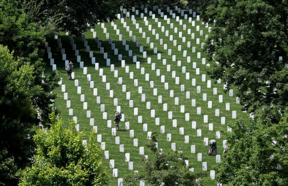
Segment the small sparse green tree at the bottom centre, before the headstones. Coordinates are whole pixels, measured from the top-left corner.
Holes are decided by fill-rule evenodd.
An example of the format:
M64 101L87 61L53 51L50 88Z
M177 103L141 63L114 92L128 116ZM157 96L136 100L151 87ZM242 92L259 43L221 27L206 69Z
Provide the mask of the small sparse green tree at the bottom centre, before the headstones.
M207 174L189 171L191 167L185 165L185 160L188 158L182 152L169 150L162 153L156 147L157 136L158 134L153 131L151 140L146 145L153 152L154 157L146 159L142 155L143 168L138 173L133 172L126 175L124 177L124 185L135 186L138 184L138 180L146 180L155 186L205 185L206 180L202 177ZM179 167L170 166L170 162L176 163Z

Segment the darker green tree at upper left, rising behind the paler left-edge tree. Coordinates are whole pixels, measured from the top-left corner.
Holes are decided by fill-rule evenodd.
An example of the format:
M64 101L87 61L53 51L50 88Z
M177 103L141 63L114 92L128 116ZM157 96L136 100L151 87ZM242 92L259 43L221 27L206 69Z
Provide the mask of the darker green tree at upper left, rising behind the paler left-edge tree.
M42 61L44 55L44 31L38 28L36 23L30 22L30 18L21 9L17 8L19 3L15 0L0 0L0 44L8 46L15 57L21 57L19 66L30 63L34 66L32 71L33 80L30 81L31 100L35 109L42 113L42 120L48 123L48 114L51 113L51 100L56 98L51 93L58 87L58 73L53 71L46 77L42 76L45 63ZM39 91L33 91L33 88Z

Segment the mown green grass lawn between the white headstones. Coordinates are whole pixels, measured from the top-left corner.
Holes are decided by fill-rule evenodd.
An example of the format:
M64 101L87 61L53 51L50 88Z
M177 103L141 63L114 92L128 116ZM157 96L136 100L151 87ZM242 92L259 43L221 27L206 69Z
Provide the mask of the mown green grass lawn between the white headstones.
M114 55L114 50L111 49L111 45L106 39L106 34L103 33L101 25L95 25L94 31L97 32L97 37L104 47L104 52L107 52L108 58L111 60L111 64L114 64L115 70L118 70L118 77L123 78L123 84L126 84L126 91L131 93L131 99L134 101L134 108L138 108L138 116L143 117L143 122L138 123L138 116L135 116L134 109L129 108L129 100L126 100L126 92L122 92L122 84L117 84L118 78L114 77L114 72L110 67L106 66L106 59L103 59L103 54L100 54L100 49L97 48L97 43L91 31L85 32L86 40L90 46L90 51L94 52L96 63L99 63L99 68L102 68L104 75L106 75L106 82L102 82L102 76L99 76L99 70L95 70L95 65L91 64L91 58L89 53L86 52L84 42L82 38L75 38L74 43L76 49L79 50L81 61L84 61L84 66L87 67L88 74L91 74L91 79L94 81L94 87L98 89L98 95L101 96L101 104L105 104L105 112L107 112L108 120L112 120L112 127L114 120L114 98L118 99L118 105L121 106L121 113L125 114L125 122L130 123L130 129L134 130L134 138L138 139L138 147L133 146L133 139L129 137L129 130L125 130L125 122L120 122L120 131L117 131L117 136L120 137L120 144L125 145L125 152L119 151L119 145L115 144L115 136L111 135L111 128L107 127L107 120L102 119L102 112L100 111L100 104L96 103L96 96L93 96L93 88L90 88L90 83L87 81L87 76L83 74L83 69L80 69L79 63L77 63L75 51L72 51L70 45L69 36L65 33L59 33L58 37L61 38L62 48L65 48L67 60L74 63L75 78L79 80L79 86L82 87L81 94L85 94L85 102L88 102L88 110L91 111L91 117L95 119L94 125L98 126L98 134L102 134L102 142L106 143L106 150L109 150L109 158L115 160L115 168L118 169L118 178L123 178L127 173L132 170L128 170L128 162L125 162L125 153L130 153L130 161L134 162L134 170L141 170L141 162L139 158L139 147L144 146L144 153L148 157L152 156L152 153L145 146L147 143L147 132L143 131L143 124L147 123L148 131L157 131L159 134L158 148L163 149L163 152L167 152L171 149L171 143L176 143L176 150L183 151L189 157L189 165L191 165L195 172L202 171L202 162L208 164L208 177L210 170L214 170L213 166L216 166L216 157L207 156L206 152L209 146L203 145L204 137L216 139L216 131L221 131L221 139L217 139L218 154L222 155L223 147L222 142L225 140L224 132L227 131L227 124L235 121L232 119L232 111L237 111L237 118L243 118L249 120L249 114L241 111L241 105L236 104L236 96L229 96L228 93L224 93L223 82L214 84L212 80L211 88L207 88L207 80L210 80L206 75L206 81L202 82L202 74L206 74L206 65L202 64L202 58L206 57L206 54L201 51L201 43L205 41L205 34L208 33L208 28L201 24L200 21L196 21L196 18L192 18L195 21L195 27L188 22L188 19L184 19L176 11L176 16L180 16L183 20L183 24L186 24L186 30L183 30L183 26L179 25L176 19L172 19L172 16L162 10L164 15L170 18L170 22L174 23L174 27L178 28L178 32L182 31L182 36L186 37L186 43L182 42L182 38L178 37L178 33L174 33L174 29L170 29L170 26L166 23L166 20L160 17L157 11L153 14L156 15L158 21L162 26L165 26L165 30L169 30L169 35L173 35L173 40L177 40L177 45L181 45L181 51L178 51L177 46L173 46L173 41L169 41L169 37L165 37L165 32L161 32L161 28L158 28L158 23L149 16L149 10L147 14L147 20L149 25L152 25L152 29L155 29L159 34L159 38L163 39L163 43L167 44L168 49L172 49L172 55L176 55L176 62L172 61L172 56L168 55L168 50L164 50L163 45L160 45L160 41L155 39L155 35L152 35L152 31L148 31L148 26L140 18L140 13L144 13L144 10L139 10L139 15L135 15L135 12L130 11L131 15L135 15L136 23L139 23L139 27L143 28L146 32L146 37L150 37L150 43L154 43L154 47L157 47L157 52L161 53L161 60L157 60L157 54L153 54L153 49L150 49L150 44L146 43L146 38L142 38L142 34L133 25L131 17L130 21L125 20L127 26L130 27L132 35L136 36L136 40L140 42L140 46L143 46L144 51L147 52L147 57L151 58L151 63L155 63L156 68L160 69L160 75L165 75L165 82L169 83L169 90L164 89L164 83L161 83L161 76L156 76L156 70L151 69L151 64L147 64L147 58L143 58L143 54L139 51L139 47L136 47L136 43L132 42L132 37L129 37L129 32L126 28L123 28L120 20L115 20L114 24L117 25L117 29L120 30L120 34L123 34L123 39L126 39L126 44L129 45L129 50L133 51L133 56L137 56L137 61L140 61L140 67L145 68L145 74L149 73L149 81L154 81L154 88L157 88L157 96L153 96L153 88L150 88L150 82L145 81L145 75L141 75L140 69L136 69L136 63L133 63L133 57L128 56L128 51L125 51L125 46L122 45L122 41L119 41L119 36L116 35L111 23L105 23L107 33L112 38L112 42L115 43L115 48L118 49L118 54L123 55L126 66L129 66L129 72L134 72L134 79L138 79L138 87L142 87L143 93L146 94L146 102L151 102L151 109L155 110L155 117L160 118L160 125L155 125L155 118L150 117L150 110L146 109L146 102L141 102L141 94L138 93L138 87L134 86L134 80L130 79L129 73L125 73L125 68L121 68L121 61L118 61L118 56ZM152 11L152 10L151 10ZM186 14L186 12L185 12ZM192 17L192 15L188 15ZM196 31L196 25L200 26L200 30L203 30L203 36L200 36L199 31ZM187 34L187 30L191 29L191 33L195 33L195 39L191 39L191 35ZM196 38L200 38L200 44L196 44ZM89 118L86 117L86 110L83 110L83 102L80 102L80 94L77 94L77 87L74 86L74 80L67 80L64 66L65 62L62 61L61 49L58 48L57 40L54 38L47 38L49 46L51 47L52 58L55 60L57 70L59 70L61 77L63 78L62 84L66 85L66 92L68 92L68 100L71 100L71 108L74 110L74 116L78 117L77 123L80 125L80 131L85 131L88 139L92 126L89 125ZM191 42L191 48L187 48L187 41ZM192 47L196 46L196 53L192 53ZM183 56L183 50L187 50L187 56L191 57L191 63L187 63L187 58ZM197 52L201 52L201 58L197 58ZM162 64L162 59L167 60L166 65L171 65L171 72L167 72L166 65ZM46 72L52 70L50 66L50 60L48 55L45 56L47 61ZM181 61L181 66L177 66L177 61ZM193 68L193 62L197 63L197 68L200 69L200 75L196 75L196 69ZM208 59L206 59L208 63ZM212 63L215 63L213 61ZM186 66L186 72L189 72L189 80L186 80L185 73L182 73L182 66ZM180 84L175 84L175 78L172 78L172 71L176 71L176 76L180 78ZM201 93L196 93L196 86L192 86L192 78L196 78L196 86L201 86ZM110 83L110 90L114 90L114 97L109 97L109 90L106 90L106 83ZM185 91L180 91L180 85L185 85ZM217 95L213 95L213 88L217 87ZM174 90L174 97L170 97L170 90ZM66 100L63 99L63 92L61 92L61 85L55 90L58 94L58 98L55 99L55 106L61 111L60 116L68 123L68 120L72 119L69 116L66 108ZM186 99L186 91L190 91L190 99ZM207 94L207 101L202 100L202 94ZM234 88L234 95L236 88ZM162 104L158 103L158 96L162 96ZM218 102L218 96L223 95L223 103ZM174 105L175 97L179 98L179 105ZM191 100L196 99L196 107L191 106ZM212 101L212 108L208 108L208 101ZM168 111L173 112L173 119L177 120L177 128L172 127L172 120L168 119L168 111L163 111L163 103L168 104ZM226 111L226 103L230 103L230 111ZM189 121L185 121L185 113L180 113L180 105L185 105L185 113L190 114ZM197 107L201 107L201 115L197 115ZM220 117L215 117L215 109L220 109ZM208 130L208 123L204 123L203 117L208 115L208 123L213 123L213 131ZM226 124L221 125L221 117L226 117ZM192 121L197 122L196 129L192 129ZM160 133L160 126L165 125L165 133ZM184 135L179 134L179 128L184 127ZM202 129L202 137L197 137L197 129ZM233 129L232 129L233 130ZM172 136L171 142L166 140L167 134ZM189 135L189 143L184 143L184 136ZM89 141L88 141L89 143ZM196 145L196 153L190 152L191 145ZM99 143L100 146L100 143ZM197 161L197 153L202 153L202 162ZM223 160L223 156L221 157ZM108 170L108 185L117 185L117 179L112 176L112 169L109 168L109 160L104 159L104 165ZM209 181L208 185L216 185L215 180ZM149 185L146 183L146 185Z

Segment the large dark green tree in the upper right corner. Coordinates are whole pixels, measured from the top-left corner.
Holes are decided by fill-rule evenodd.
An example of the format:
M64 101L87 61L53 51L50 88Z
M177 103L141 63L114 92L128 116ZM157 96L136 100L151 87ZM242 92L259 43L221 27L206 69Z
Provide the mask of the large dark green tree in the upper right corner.
M204 0L201 19L211 25L205 43L211 78L237 87L244 110L288 106L287 1ZM214 23L215 22L215 23Z

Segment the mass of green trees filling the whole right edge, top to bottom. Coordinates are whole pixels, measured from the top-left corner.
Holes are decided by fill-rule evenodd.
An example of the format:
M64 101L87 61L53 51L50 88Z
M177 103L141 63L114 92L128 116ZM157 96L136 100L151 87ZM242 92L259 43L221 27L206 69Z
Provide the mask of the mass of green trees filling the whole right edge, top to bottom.
M211 26L204 45L208 75L234 85L254 120L230 123L229 151L216 170L224 185L288 185L288 3L202 0L200 18Z

